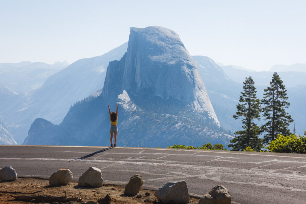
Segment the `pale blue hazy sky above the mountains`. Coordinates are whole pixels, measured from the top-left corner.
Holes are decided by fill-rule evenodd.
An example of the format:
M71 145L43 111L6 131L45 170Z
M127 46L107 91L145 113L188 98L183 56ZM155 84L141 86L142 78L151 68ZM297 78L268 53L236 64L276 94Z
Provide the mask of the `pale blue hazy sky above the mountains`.
M177 32L191 55L256 71L306 63L306 1L0 0L0 63L73 63L129 39L130 27Z

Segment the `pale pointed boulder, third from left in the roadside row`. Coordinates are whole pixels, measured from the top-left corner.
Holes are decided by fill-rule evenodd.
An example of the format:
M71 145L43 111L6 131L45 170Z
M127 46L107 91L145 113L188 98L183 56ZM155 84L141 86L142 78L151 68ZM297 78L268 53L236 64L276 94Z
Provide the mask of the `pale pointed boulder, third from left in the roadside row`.
M79 178L79 186L103 186L103 178L101 170L95 167L89 167L89 169L82 174Z

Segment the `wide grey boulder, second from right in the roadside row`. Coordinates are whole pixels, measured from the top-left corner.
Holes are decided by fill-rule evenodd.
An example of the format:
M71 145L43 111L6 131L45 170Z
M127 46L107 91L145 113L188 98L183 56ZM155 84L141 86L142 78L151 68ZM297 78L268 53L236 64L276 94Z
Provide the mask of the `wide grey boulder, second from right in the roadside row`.
M154 195L163 203L188 203L190 201L186 181L169 181L159 187Z

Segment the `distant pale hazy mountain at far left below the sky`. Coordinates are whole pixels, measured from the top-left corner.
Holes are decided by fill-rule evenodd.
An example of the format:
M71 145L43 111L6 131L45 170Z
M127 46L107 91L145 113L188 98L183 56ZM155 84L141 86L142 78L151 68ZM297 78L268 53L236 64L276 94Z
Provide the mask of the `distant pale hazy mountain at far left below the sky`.
M29 61L0 63L0 82L17 93L33 91L41 87L49 76L68 65L67 61L55 62L53 65Z

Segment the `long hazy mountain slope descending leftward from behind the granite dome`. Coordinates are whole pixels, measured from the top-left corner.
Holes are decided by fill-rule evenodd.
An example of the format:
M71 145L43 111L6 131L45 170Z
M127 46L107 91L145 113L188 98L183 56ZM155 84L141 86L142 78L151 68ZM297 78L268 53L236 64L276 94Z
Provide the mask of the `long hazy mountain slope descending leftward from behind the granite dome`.
M103 87L109 61L120 59L126 49L127 43L101 56L74 62L50 76L39 89L9 101L6 109L0 109L0 120L12 130L18 144L23 143L35 118L59 124L74 102Z

